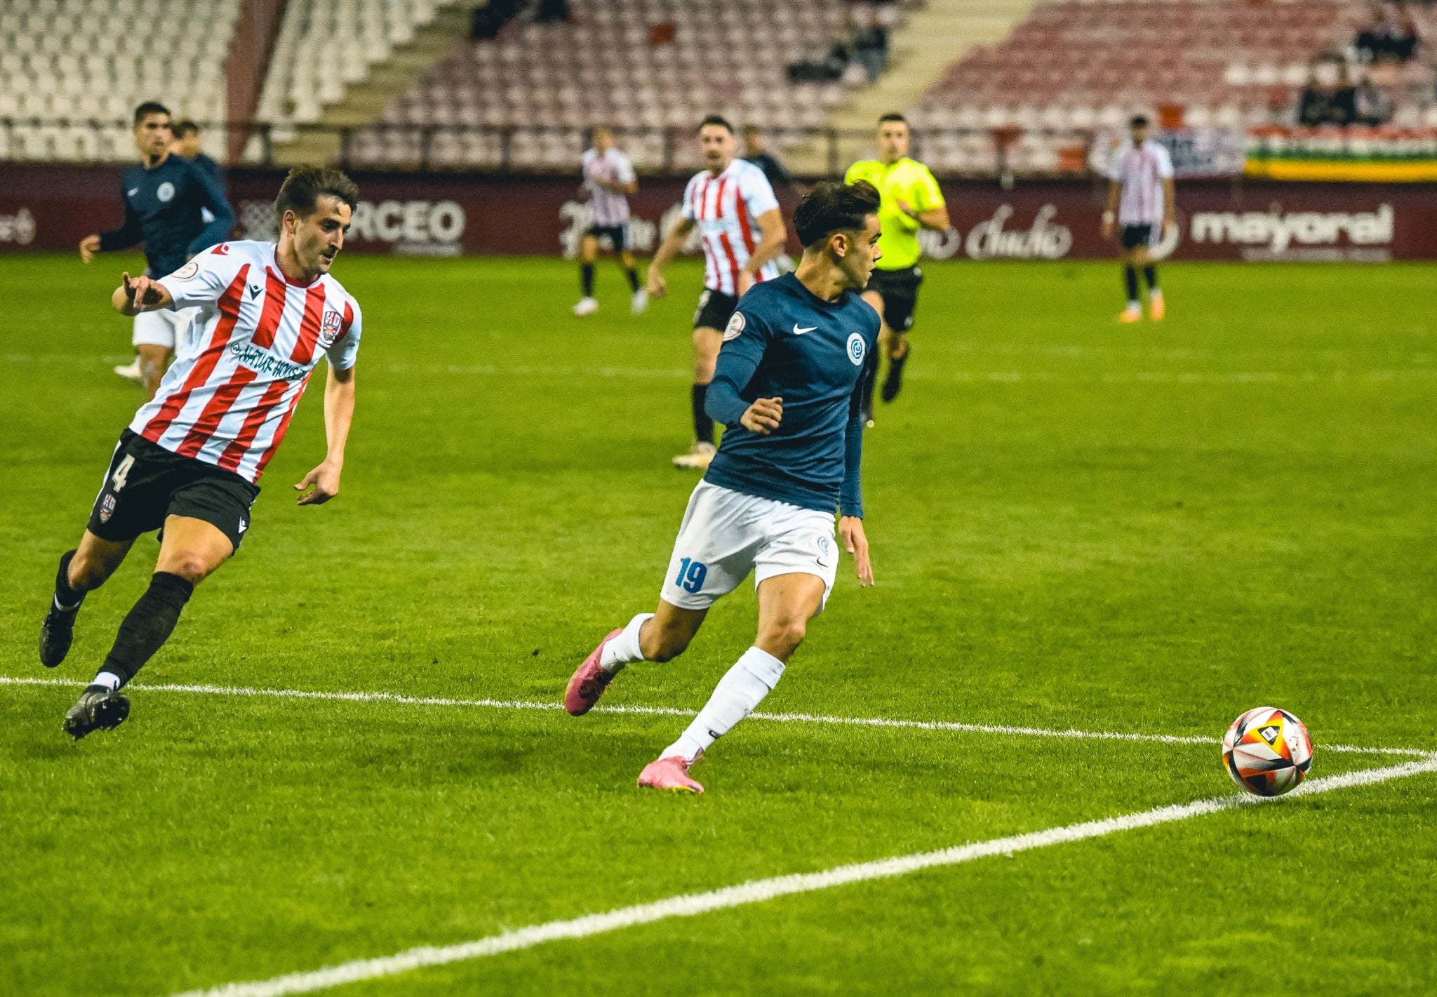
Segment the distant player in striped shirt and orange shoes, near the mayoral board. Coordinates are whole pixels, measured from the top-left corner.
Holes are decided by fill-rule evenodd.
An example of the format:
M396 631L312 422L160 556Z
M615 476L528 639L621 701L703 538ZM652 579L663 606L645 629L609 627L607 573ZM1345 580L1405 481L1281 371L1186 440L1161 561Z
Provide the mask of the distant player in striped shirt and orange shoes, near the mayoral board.
M1148 136L1148 119L1142 115L1132 118L1129 129L1131 138L1114 151L1108 167L1112 182L1108 187L1108 208L1102 213L1102 237L1112 238L1114 223L1118 224L1122 277L1128 290L1128 307L1118 320L1142 320L1142 302L1138 296L1138 267L1142 267L1148 282L1148 315L1157 322L1167 309L1148 247L1163 237L1168 226L1177 224L1173 157L1164 145Z

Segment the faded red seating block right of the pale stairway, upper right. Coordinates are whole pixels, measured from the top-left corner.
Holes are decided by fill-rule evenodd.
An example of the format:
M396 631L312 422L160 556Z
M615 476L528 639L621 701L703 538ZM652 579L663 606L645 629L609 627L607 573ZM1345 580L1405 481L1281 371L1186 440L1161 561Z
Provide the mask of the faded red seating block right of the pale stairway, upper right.
M923 154L957 172L992 170L993 129L1007 129L1015 170L1058 172L1082 168L1071 152L1091 129L1138 109L1181 108L1194 126L1290 121L1311 60L1345 50L1361 10L1344 0L1043 3L1003 42L956 62L910 118L947 132ZM1404 73L1400 124L1420 124L1410 98L1426 88L1430 101L1431 70Z

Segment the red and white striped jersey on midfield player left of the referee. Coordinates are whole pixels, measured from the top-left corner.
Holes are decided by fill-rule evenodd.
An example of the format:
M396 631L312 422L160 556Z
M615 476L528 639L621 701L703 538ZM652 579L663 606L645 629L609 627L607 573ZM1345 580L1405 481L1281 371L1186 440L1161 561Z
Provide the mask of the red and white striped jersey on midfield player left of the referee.
M747 159L734 159L717 177L704 170L688 181L684 217L698 224L704 241L704 287L739 293L739 272L759 244L759 215L777 207L769 178ZM770 260L754 276L773 280L779 267Z

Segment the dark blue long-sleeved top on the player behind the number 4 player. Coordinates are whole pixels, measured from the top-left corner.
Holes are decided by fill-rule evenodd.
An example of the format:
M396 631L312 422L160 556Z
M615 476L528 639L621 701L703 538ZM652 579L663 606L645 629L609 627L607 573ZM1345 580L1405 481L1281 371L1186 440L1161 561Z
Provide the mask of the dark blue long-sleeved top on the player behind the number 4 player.
M101 233L99 247L108 253L144 243L152 277L174 273L195 253L227 240L234 228L234 211L220 185L177 155L154 170L138 162L126 167L119 197L125 203L125 224ZM205 223L201 208L208 208L214 221Z

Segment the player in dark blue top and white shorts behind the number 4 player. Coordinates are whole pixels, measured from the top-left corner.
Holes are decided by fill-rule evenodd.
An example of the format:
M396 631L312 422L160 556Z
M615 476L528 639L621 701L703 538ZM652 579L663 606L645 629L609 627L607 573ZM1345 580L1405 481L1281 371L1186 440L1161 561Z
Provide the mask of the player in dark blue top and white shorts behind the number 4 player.
M139 162L121 178L119 197L125 221L112 231L80 240L80 259L145 244L145 276L162 277L234 228L234 211L224 191L203 168L171 154L170 111L147 101L135 108L135 148ZM208 214L205 214L208 213ZM145 397L154 398L160 378L175 351L178 336L190 328L193 309L141 312L135 316L135 368L118 366L115 374L141 381Z

